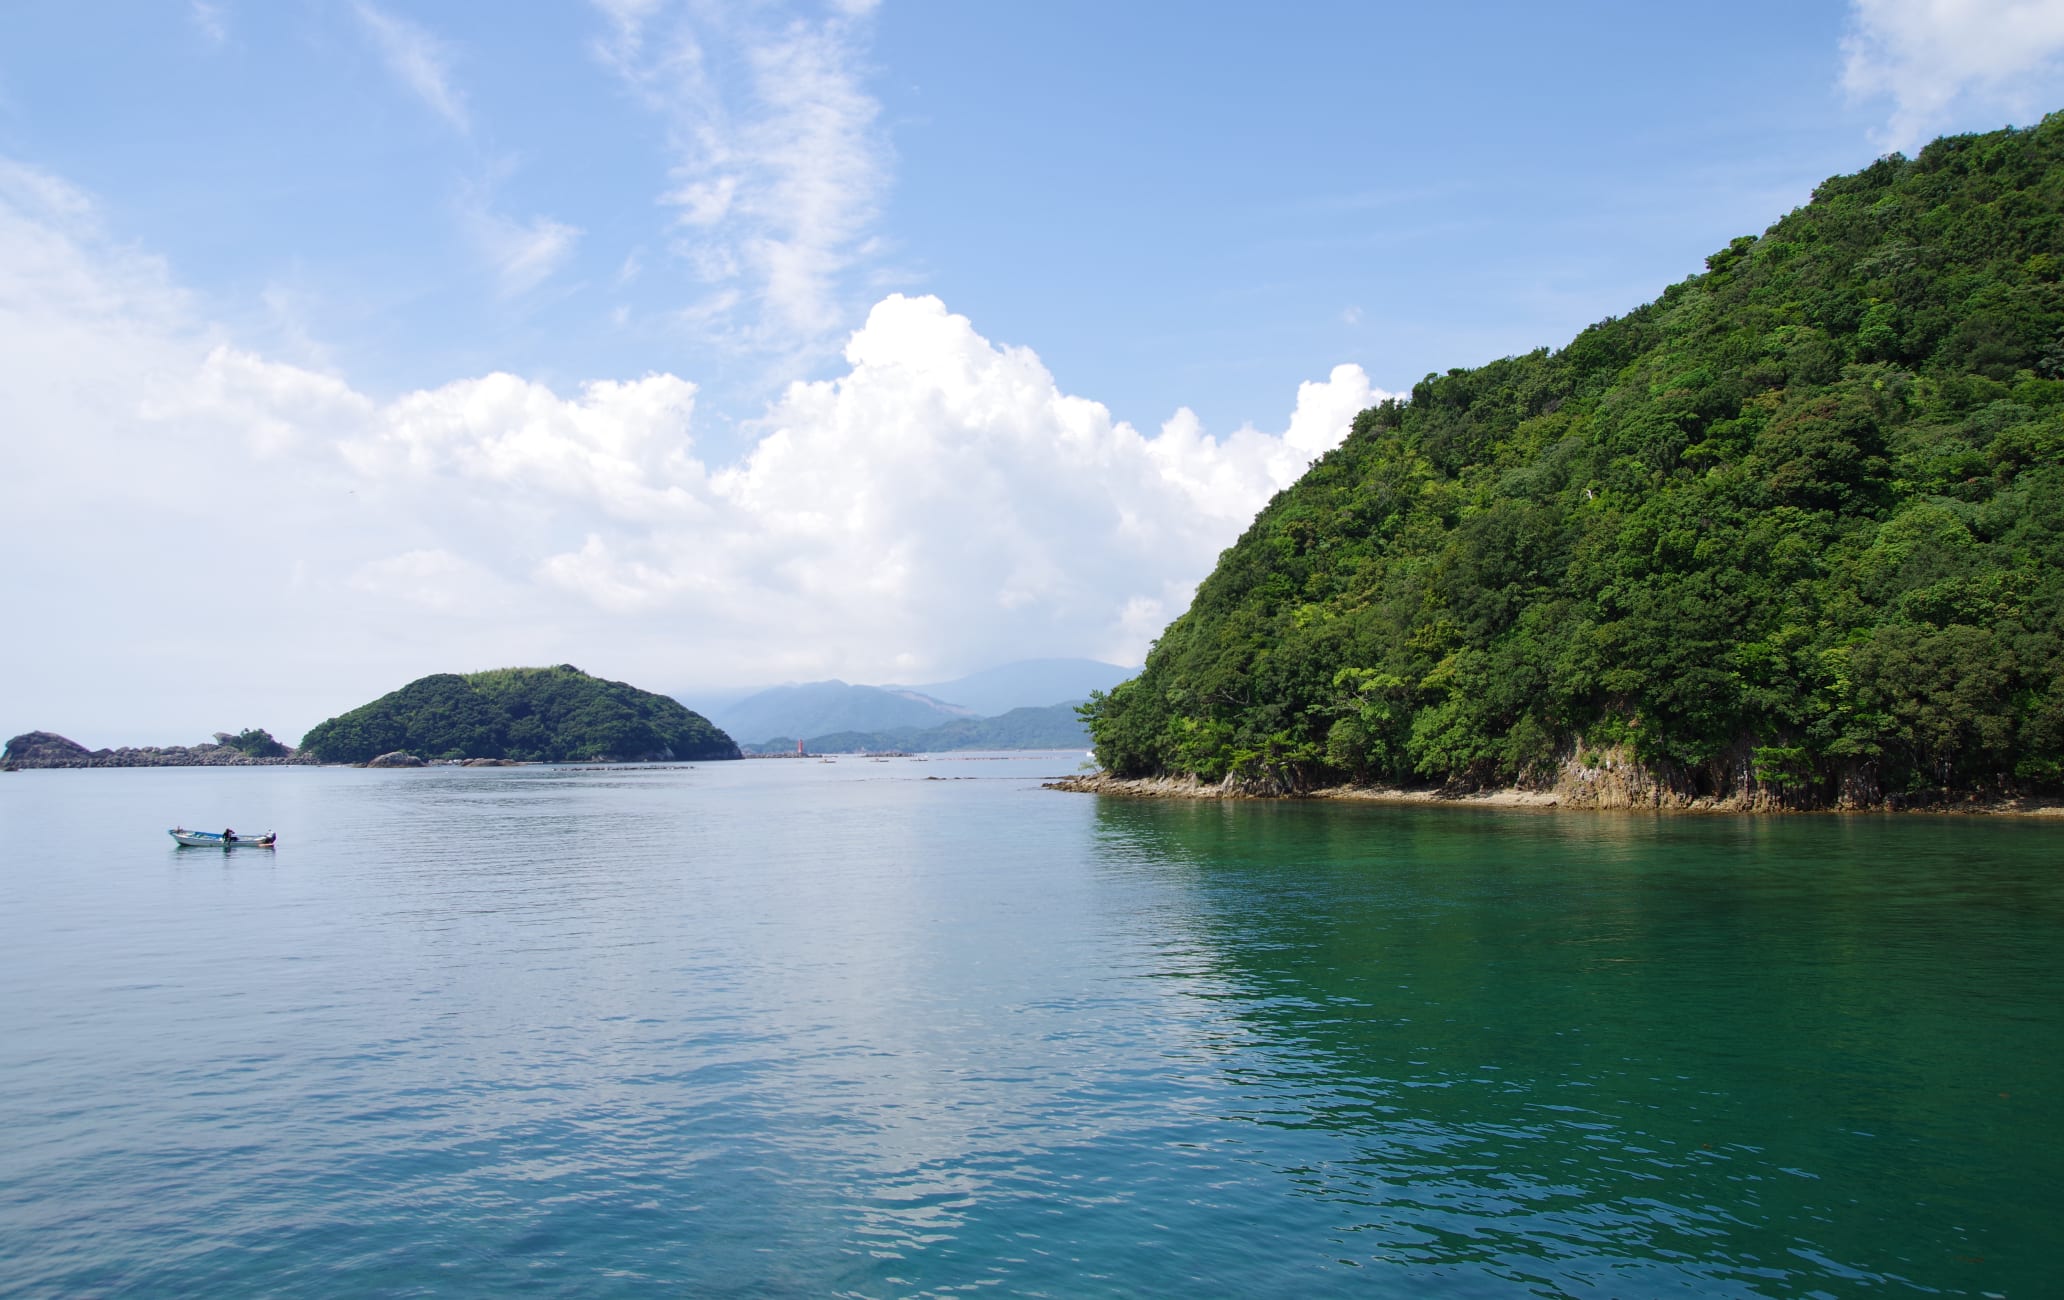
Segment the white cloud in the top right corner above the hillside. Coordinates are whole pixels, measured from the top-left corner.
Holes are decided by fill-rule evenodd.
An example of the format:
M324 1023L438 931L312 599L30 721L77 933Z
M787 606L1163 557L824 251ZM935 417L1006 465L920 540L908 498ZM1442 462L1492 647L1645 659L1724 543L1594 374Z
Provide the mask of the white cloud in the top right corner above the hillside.
M1891 101L1886 149L2025 122L2064 91L2058 0L1851 0L1841 47L1851 99Z

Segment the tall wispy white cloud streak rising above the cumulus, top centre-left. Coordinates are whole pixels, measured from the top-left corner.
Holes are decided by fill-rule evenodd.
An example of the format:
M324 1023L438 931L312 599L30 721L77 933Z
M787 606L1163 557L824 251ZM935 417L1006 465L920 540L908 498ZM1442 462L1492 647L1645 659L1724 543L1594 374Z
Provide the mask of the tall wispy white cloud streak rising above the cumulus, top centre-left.
M669 130L683 322L755 351L834 340L861 307L890 151L865 89L873 4L791 10L596 0L611 68Z

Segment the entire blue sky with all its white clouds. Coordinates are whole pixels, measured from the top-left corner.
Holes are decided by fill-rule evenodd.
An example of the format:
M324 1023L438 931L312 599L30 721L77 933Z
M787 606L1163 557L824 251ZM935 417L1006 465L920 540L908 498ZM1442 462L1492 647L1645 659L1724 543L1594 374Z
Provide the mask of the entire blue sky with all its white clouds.
M2064 107L2058 0L19 0L0 726L1135 662L1430 371ZM223 518L225 503L233 518ZM250 603L223 644L188 600ZM291 739L291 737L289 737Z

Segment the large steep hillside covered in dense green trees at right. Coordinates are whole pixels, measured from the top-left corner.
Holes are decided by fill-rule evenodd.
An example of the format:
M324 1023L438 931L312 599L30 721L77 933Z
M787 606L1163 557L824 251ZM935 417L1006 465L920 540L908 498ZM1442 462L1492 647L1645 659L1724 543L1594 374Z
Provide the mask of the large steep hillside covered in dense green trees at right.
M1092 700L1117 774L1876 801L2064 780L2064 113L1829 180L1280 493Z

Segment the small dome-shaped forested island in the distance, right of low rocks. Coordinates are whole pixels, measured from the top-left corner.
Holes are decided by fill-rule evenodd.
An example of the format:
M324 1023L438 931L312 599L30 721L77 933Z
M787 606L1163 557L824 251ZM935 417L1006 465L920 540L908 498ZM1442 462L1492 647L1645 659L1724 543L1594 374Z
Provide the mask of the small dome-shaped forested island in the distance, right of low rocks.
M394 749L423 759L739 757L731 737L702 714L572 664L421 677L316 724L301 749L326 763L363 763Z

